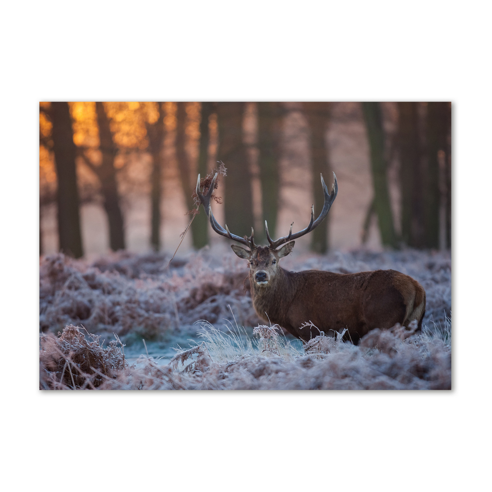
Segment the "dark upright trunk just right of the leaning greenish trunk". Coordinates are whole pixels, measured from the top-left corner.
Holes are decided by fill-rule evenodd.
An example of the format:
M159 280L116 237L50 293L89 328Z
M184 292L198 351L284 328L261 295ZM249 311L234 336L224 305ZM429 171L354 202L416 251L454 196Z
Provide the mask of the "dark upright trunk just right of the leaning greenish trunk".
M416 102L399 102L401 239L408 246L424 247L422 159Z

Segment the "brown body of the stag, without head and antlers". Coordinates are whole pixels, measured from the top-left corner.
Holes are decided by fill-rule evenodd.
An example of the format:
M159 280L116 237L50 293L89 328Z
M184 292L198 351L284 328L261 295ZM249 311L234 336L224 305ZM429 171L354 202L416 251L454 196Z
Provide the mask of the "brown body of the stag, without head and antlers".
M337 274L308 270L278 272L271 289L255 288L250 279L253 307L266 321L279 324L304 341L319 331L333 336L346 329L346 339L358 340L374 328L413 320L422 328L426 293L413 278L395 270ZM277 277L276 276L276 277ZM283 277L283 278L282 278ZM307 321L313 327L302 328Z

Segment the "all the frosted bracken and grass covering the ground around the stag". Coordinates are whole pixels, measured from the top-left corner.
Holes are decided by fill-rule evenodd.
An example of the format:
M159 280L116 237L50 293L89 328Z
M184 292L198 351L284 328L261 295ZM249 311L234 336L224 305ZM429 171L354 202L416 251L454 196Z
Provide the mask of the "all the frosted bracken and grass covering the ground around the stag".
M422 334L397 325L373 330L357 346L342 335L320 333L301 347L278 326L263 325L246 290L243 263L207 249L173 260L168 270L158 254L118 253L93 264L62 254L42 258L40 388L451 388L449 253L355 251L283 260L284 268L297 271L393 268L422 283ZM169 364L148 355L134 364L125 360L125 343L186 329L198 331L197 341ZM103 337L113 340L109 346Z

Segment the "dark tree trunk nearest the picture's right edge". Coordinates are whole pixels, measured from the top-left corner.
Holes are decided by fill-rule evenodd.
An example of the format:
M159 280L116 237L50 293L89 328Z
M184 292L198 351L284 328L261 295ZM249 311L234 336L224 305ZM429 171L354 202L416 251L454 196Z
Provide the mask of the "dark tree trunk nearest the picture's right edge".
M425 201L425 230L427 246L439 247L439 160L438 153L448 153L451 127L449 102L430 102L427 106L427 180ZM446 159L448 160L448 159ZM447 167L447 166L446 166ZM449 181L449 178L448 180Z

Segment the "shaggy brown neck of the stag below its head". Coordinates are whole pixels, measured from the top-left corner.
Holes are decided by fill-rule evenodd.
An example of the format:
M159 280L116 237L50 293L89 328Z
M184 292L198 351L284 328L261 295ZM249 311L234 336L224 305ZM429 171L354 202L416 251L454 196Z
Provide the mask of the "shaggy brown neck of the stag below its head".
M266 287L251 281L253 307L265 321L282 325L285 313L297 292L297 278L293 272L279 268Z

